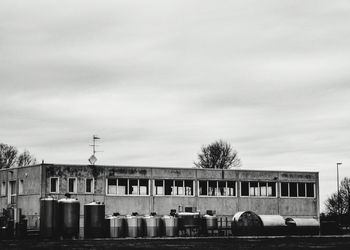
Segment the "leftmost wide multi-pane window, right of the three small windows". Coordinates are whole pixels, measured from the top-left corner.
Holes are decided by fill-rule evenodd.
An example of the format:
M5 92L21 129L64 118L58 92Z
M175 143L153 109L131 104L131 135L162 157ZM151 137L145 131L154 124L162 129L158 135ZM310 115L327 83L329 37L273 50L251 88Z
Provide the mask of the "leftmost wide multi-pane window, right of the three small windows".
M108 179L107 194L111 195L149 195L146 179Z

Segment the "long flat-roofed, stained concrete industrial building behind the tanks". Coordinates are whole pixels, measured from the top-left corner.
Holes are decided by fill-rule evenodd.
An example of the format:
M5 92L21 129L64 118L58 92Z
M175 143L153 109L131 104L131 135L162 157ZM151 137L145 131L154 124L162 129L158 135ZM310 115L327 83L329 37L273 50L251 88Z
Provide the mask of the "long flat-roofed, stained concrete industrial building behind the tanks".
M318 172L40 164L0 170L0 209L22 209L39 228L40 198L66 193L106 214L169 214L196 207L232 217L238 211L319 219Z

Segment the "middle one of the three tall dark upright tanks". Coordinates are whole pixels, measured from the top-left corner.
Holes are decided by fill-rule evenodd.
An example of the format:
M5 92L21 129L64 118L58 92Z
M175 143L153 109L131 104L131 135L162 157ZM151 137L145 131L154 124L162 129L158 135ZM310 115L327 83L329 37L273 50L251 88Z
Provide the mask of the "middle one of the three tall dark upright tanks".
M76 199L58 200L59 235L63 238L79 238L80 203Z

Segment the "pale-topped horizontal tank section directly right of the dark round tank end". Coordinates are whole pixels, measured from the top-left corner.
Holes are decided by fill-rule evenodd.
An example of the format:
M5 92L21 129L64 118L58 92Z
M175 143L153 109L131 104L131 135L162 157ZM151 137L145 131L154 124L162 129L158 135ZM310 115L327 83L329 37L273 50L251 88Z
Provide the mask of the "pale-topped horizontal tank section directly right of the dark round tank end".
M280 215L259 215L262 222L262 235L286 235L287 225Z

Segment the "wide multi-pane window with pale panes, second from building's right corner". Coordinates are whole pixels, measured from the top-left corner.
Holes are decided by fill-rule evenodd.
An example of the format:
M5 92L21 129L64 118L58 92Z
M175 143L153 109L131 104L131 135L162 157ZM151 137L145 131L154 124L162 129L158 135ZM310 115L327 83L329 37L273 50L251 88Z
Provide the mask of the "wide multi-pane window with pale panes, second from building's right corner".
M243 181L241 196L276 197L276 182Z

